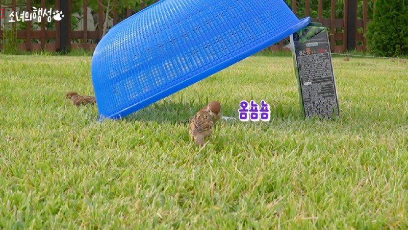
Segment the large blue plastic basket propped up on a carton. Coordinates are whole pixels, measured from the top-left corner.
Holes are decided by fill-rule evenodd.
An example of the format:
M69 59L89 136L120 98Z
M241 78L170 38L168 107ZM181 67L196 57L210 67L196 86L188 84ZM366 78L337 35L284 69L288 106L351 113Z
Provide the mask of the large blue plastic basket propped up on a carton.
M101 118L163 99L307 26L283 0L162 0L98 43L92 82Z

